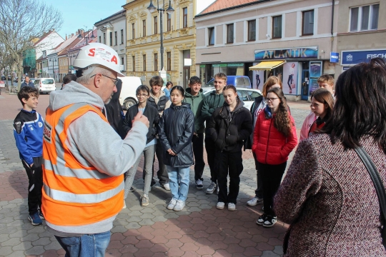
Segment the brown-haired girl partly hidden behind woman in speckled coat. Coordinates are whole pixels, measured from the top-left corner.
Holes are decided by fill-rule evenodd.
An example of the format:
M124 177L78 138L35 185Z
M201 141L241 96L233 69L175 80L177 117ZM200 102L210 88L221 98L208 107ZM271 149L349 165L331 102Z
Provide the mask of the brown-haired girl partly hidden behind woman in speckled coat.
M308 135L325 126L334 108L334 97L327 89L317 89L311 96L311 111L319 116L310 127Z

